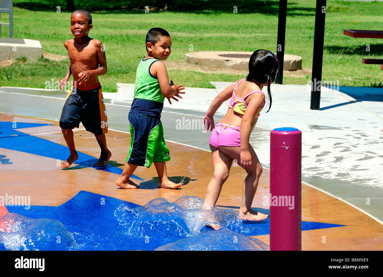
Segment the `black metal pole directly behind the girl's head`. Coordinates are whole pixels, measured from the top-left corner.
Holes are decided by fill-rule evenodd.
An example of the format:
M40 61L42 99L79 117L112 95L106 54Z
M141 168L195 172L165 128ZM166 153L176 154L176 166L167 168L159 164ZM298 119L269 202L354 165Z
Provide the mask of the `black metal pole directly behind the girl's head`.
M283 56L285 55L286 10L287 0L280 0L277 38L277 57L279 61L279 71L277 77L275 78L275 84L282 84L283 81Z

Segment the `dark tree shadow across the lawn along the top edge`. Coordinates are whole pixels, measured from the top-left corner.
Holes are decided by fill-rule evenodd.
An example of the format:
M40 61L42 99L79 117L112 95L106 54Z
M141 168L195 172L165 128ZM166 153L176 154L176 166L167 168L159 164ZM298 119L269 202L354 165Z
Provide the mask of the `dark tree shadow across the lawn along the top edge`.
M149 13L158 13L164 9L174 12L193 12L193 13L262 13L265 15L277 15L279 12L279 1L277 0L115 0L104 2L90 0L80 2L74 1L75 8L83 8L93 13L145 13L145 8L149 7ZM43 0L43 1L14 1L16 7L32 11L51 11L56 12L57 6L62 11L66 9L65 0ZM315 15L315 4L312 8L299 7L299 2L288 3L287 15ZM71 12L71 11L68 11Z

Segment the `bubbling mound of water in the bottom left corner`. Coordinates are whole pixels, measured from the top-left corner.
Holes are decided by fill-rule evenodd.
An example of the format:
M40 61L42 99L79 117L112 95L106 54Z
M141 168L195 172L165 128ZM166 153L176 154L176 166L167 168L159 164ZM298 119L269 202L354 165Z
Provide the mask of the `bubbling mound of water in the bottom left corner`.
M72 234L54 219L9 213L0 218L0 250L71 250Z

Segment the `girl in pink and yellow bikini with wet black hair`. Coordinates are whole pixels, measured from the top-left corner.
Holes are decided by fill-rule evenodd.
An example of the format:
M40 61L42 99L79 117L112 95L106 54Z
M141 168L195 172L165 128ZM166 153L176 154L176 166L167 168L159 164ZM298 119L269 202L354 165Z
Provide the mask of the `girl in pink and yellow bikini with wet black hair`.
M275 80L277 72L277 56L270 51L259 49L250 57L249 75L224 89L211 102L204 118L204 125L206 130L209 128L212 130L209 144L213 160L213 178L206 190L203 209L214 207L222 185L229 177L232 162L236 160L241 161L241 167L247 172L239 209L241 219L261 221L268 217L267 214L257 213L251 209L262 174L262 165L249 143L249 138L258 121L260 111L266 104L265 95L262 92L264 86L267 86L269 99L267 112L270 110L272 102L270 84ZM228 112L217 125L214 125L215 112L224 101L230 98ZM208 225L214 229L220 228L216 224Z

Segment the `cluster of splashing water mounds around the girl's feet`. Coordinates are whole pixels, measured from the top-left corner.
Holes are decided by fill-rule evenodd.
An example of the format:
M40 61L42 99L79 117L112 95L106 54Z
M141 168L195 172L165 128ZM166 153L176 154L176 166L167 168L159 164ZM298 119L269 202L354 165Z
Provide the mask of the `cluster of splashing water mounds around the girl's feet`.
M122 204L114 214L129 235L163 245L156 250L268 250L263 242L234 232L246 231L238 211L217 207L203 210L203 202L196 196L182 196L173 203L156 198L137 208ZM208 223L221 226L221 230L205 228Z

